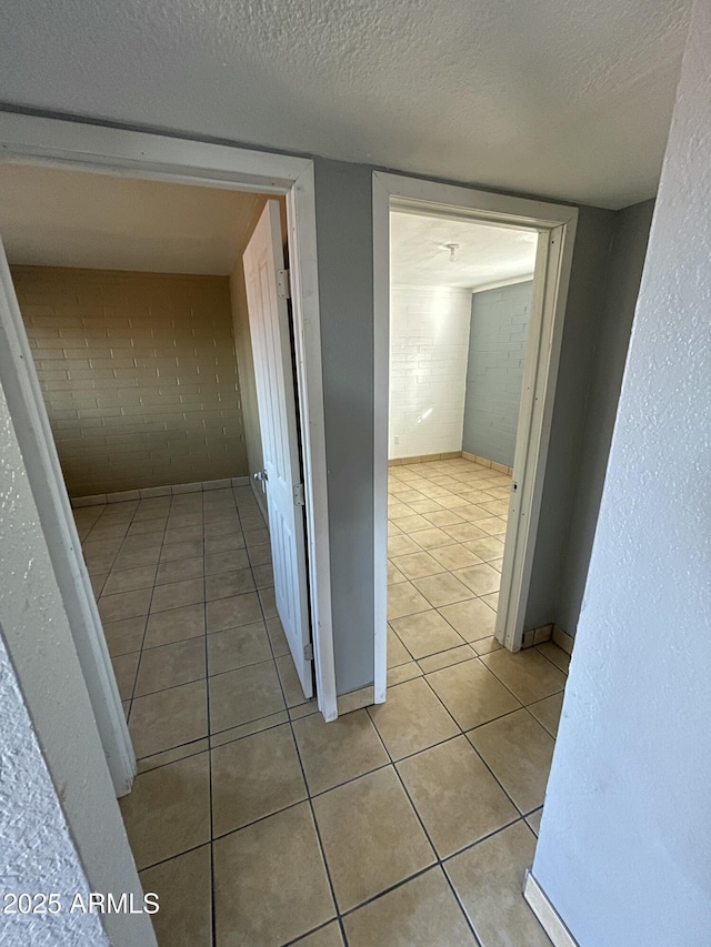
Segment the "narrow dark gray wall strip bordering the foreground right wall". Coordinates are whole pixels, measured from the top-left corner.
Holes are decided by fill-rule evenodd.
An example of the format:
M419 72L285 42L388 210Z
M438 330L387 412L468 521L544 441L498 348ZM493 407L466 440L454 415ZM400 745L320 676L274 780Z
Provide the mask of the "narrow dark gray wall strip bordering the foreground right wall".
M570 635L575 634L588 576L653 210L654 202L644 201L615 214L555 611L555 621Z

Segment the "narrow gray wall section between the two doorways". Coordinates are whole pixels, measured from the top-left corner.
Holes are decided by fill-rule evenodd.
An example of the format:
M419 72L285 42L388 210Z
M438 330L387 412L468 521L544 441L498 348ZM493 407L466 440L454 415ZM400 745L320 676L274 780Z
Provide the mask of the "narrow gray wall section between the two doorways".
M316 218L339 694L373 683L372 168L316 160Z

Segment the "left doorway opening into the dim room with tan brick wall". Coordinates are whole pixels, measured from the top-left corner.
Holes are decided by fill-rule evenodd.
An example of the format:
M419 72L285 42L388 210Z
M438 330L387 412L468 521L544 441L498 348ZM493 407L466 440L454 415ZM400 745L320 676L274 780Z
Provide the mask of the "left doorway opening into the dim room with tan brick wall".
M19 301L3 318L32 356L24 364L36 409L51 429L58 487L71 497L69 544L79 548L76 528L83 548L72 587L78 594L86 580L97 598L84 605L104 679L84 677L99 706L118 707L104 747L123 795L136 760L121 711L144 767L313 694L311 603L299 613L309 653L300 648L298 674L280 621L268 503L251 476L263 465L264 404L253 384L260 364L242 252L266 204L277 208L277 241L288 246L287 202L79 169L7 163L0 173L11 195L0 220L8 291ZM303 400L293 313L281 354L296 415ZM302 456L293 462L300 471ZM303 477L299 486L303 495ZM298 516L306 573L303 503ZM300 593L308 597L306 582ZM252 686L256 674L263 686Z

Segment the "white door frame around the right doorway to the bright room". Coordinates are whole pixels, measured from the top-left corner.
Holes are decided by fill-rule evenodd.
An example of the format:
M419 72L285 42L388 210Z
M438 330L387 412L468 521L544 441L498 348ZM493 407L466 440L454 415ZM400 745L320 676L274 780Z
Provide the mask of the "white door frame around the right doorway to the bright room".
M523 643L533 540L541 514L563 320L578 210L474 188L373 172L374 286L374 691L385 699L388 617L388 425L390 382L390 211L398 205L432 215L535 230L539 244L524 367L513 483L505 535L495 637L509 651Z

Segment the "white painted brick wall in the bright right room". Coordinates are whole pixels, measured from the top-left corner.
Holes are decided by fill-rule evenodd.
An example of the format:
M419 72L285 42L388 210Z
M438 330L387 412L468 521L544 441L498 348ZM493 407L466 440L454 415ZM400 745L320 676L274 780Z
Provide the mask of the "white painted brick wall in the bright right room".
M391 460L461 451L470 318L471 290L391 289Z

